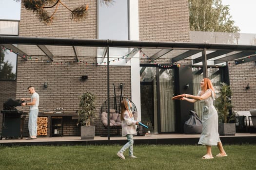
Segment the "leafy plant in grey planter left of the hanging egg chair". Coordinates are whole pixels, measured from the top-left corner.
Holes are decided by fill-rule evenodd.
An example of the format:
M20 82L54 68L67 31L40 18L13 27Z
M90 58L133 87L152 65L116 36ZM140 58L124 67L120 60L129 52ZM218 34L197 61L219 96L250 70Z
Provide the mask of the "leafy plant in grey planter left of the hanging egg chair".
M81 139L94 139L95 126L92 125L97 118L95 114L95 99L91 93L79 96L78 123L81 126Z

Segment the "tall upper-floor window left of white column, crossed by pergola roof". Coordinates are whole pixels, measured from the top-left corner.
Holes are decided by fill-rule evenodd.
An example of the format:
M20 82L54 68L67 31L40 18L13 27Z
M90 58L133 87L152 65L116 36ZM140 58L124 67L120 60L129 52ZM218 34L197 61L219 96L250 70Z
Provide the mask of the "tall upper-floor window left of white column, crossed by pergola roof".
M115 0L109 6L98 0L98 39L128 40L128 0ZM126 57L132 49L110 48L110 65L128 65ZM99 65L107 65L106 48L98 48Z

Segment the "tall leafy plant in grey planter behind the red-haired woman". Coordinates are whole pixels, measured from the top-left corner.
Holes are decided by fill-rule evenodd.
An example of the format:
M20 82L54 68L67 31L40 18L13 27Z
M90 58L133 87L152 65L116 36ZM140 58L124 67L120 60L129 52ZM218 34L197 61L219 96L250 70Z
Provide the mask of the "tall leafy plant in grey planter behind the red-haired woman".
M216 108L218 112L218 133L222 136L235 136L236 125L235 123L230 123L230 120L235 118L232 112L231 103L231 89L230 85L226 83L220 83L219 96L216 99Z

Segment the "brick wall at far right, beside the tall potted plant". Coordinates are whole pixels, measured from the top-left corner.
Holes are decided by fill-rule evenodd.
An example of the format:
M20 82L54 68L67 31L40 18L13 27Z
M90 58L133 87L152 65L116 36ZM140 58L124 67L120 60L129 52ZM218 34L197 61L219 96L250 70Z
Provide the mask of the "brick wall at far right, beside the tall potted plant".
M229 64L230 85L232 90L232 104L234 111L249 111L256 108L256 63L249 62L236 65ZM246 90L246 85L250 89Z

